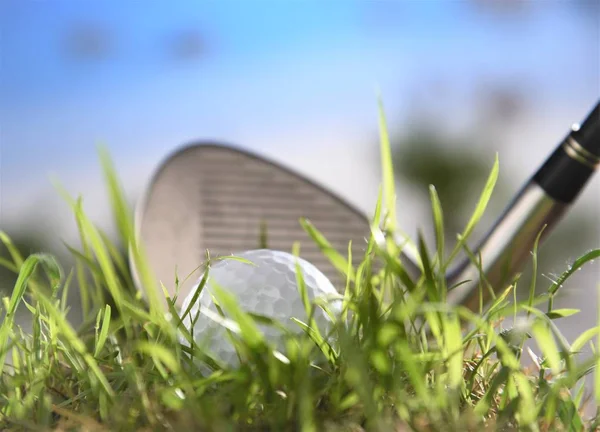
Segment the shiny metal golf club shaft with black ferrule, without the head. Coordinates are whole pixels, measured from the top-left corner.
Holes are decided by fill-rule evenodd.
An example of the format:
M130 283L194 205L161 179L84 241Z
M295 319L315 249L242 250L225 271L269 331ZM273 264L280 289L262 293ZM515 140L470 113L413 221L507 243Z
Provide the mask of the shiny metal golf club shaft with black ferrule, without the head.
M446 275L447 301L476 311L480 300L483 304L489 300L490 288L496 293L504 290L527 262L538 234L541 232L541 243L573 205L599 165L600 103L597 103L581 126L573 126L475 249L482 271L466 259Z

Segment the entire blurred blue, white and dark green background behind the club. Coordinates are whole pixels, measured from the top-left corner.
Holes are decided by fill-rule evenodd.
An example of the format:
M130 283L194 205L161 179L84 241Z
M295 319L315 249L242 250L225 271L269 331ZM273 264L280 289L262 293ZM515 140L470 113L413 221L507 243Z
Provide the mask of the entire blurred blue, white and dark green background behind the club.
M158 164L198 139L265 155L370 214L376 88L410 235L433 239L433 183L451 243L499 154L476 240L596 103L600 2L2 0L1 229L25 253L67 260L77 231L53 178L114 233L97 144L133 204ZM600 245L599 180L545 243L540 289ZM599 270L565 284L560 307L582 309L559 322L571 341L596 323Z

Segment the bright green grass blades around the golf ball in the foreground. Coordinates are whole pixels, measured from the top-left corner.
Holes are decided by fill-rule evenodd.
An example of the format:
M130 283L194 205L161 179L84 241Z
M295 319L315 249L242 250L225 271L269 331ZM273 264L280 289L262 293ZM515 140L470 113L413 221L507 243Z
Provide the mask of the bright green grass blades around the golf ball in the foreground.
M600 249L576 260L541 296L534 296L534 280L526 287L530 296L517 301L514 293L522 288L517 281L481 314L449 306L444 302L448 287L443 270L466 247L485 209L497 160L473 217L449 256L444 255L443 210L435 188L430 188L436 246L432 253L421 239L416 245L407 243L418 251L424 270L419 280L411 280L394 240L396 196L383 109L381 114L384 189L362 263L353 267L350 248L333 250L318 227L302 221L323 253L347 276L346 286L339 287L343 299L339 325L325 335L313 320L297 321L298 333L284 334L286 349L275 350L257 324L277 323L248 314L234 297L218 291L220 309L229 318L213 318L230 331L240 366L223 365L195 342L181 325L186 311L174 307L175 299L166 297L169 314L164 313L159 296L165 291L156 286L142 245L134 239L131 212L106 153L101 161L119 241L129 247L145 287L143 296L134 288L127 257L88 219L80 199L65 195L81 235L81 245L70 247L76 262L69 272L52 256L21 256L1 235L11 260L0 264L18 273L12 295L2 303L2 429L596 428L596 418L582 415L589 403L583 379L593 373L600 357L582 359L579 353L594 346L599 327L569 344L554 321L577 311L555 309L553 300L570 275L600 257ZM301 278L299 282L299 295L309 312L325 307L309 302ZM67 295L75 283L85 315L78 328L67 319ZM15 324L17 312L29 316L31 332ZM503 329L503 320L516 316L526 320ZM541 357L528 348L526 343L532 342ZM600 396L598 383L595 392Z

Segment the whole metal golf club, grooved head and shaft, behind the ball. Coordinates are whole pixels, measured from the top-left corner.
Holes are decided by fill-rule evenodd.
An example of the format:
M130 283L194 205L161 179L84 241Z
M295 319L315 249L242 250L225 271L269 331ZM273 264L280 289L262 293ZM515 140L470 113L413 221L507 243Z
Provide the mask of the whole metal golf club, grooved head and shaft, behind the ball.
M572 127L541 168L521 188L475 248L483 281L504 289L540 242L573 205L600 165L600 103ZM361 260L369 219L327 189L267 158L218 142L199 142L169 156L153 176L136 208L136 231L149 264L171 295L176 274L182 299L199 276L205 251L224 255L262 246L290 250L323 271L335 286L340 272L300 226L309 219L339 251L352 241L354 264ZM266 231L263 231L266 228ZM266 238L263 234L266 232ZM262 239L262 240L261 240ZM401 260L413 279L421 271L406 254ZM131 263L134 278L137 276ZM447 301L472 310L485 303L487 288L478 265L466 258L447 275ZM139 281L138 281L139 282Z

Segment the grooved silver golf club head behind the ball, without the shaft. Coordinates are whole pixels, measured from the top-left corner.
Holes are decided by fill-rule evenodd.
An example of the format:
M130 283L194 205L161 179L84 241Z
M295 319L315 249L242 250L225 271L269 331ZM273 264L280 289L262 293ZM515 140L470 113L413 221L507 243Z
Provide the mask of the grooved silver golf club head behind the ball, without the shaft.
M368 218L304 176L262 156L218 142L198 142L170 155L158 168L136 208L136 232L154 276L171 296L179 280L181 306L210 256L261 246L291 252L319 268L339 290L345 278L302 228L307 218L353 264L362 261ZM135 268L134 278L137 281ZM139 283L139 281L137 281Z

